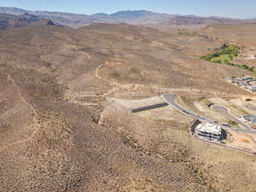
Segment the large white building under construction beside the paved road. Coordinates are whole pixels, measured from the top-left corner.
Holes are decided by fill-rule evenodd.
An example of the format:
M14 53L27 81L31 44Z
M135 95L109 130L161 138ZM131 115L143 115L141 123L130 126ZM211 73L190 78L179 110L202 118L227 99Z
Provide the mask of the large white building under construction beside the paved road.
M191 131L195 137L207 141L221 141L224 139L224 129L216 123L201 122L195 120L191 126Z

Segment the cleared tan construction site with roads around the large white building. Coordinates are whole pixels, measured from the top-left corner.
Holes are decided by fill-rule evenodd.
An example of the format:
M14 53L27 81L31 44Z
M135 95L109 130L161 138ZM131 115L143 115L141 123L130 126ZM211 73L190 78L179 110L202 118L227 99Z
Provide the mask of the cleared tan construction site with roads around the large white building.
M252 124L253 122L256 123L256 117L249 113L243 116L236 113L236 116L232 116L230 113L235 112L233 108L230 112L230 109L216 104L212 104L210 108L206 105L208 109L197 105L207 115L203 116L201 113L195 113L196 109L191 110L186 104L184 105L181 98L175 94L165 94L134 101L116 100L116 102L122 103L130 109L133 115L140 117L179 119L187 126L186 129L189 129L191 136L202 142L242 153L255 154L256 131L253 130ZM220 101L216 102L221 104ZM238 102L236 101L236 103ZM236 124L232 124L232 122L236 122Z

